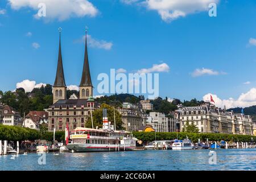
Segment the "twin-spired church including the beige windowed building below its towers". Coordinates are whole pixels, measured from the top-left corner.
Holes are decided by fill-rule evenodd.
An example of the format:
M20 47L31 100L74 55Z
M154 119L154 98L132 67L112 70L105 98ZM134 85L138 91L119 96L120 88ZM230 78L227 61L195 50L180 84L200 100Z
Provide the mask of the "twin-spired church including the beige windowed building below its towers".
M59 56L57 71L53 84L53 105L48 109L48 130L63 131L68 123L69 129L85 127L85 123L92 111L96 109L93 100L93 85L90 77L87 36L85 36L84 66L82 68L81 82L79 85L79 98L67 98L67 85L65 84L63 59L61 55L61 37L59 40Z

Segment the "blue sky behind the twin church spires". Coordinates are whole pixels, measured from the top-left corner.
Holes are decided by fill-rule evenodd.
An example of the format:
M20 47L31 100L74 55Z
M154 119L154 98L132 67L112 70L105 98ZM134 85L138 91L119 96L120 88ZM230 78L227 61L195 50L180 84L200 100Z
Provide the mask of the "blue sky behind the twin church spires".
M204 2L197 0L201 1ZM65 0L63 10L42 0L50 17L41 19L34 16L38 11L35 5L17 2L0 1L0 90L14 90L17 82L26 79L36 84L53 84L58 27L63 28L66 83L79 85L84 59L81 40L88 26L92 39L89 63L95 87L98 74L109 73L110 68L123 68L129 73L165 63L170 70L158 71L161 97L201 100L210 93L220 99L220 106L256 104L256 2L253 0L211 1L217 3L217 17L210 17L208 9L197 7L196 3L190 9L192 5L179 5L176 0L177 6L166 9L155 4L156 0L90 0L89 14L72 11L69 14L70 5L65 6L69 0ZM182 10L184 16L166 19L161 16L163 9L168 15L174 15L170 12L176 9ZM56 12L66 14L67 18L60 19ZM31 34L27 35L28 32ZM33 47L33 43L39 47ZM94 92L96 95L97 90Z

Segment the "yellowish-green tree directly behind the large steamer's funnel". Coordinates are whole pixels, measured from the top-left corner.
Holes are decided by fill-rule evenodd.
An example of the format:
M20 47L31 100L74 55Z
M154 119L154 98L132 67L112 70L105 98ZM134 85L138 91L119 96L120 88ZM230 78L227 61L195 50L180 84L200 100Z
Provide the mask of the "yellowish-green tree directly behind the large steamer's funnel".
M107 104L102 104L100 109L94 110L93 115L93 127L96 128L98 126L99 128L102 128L102 110L106 108L107 109L107 115L108 115L108 121L111 122L112 125L114 125L114 109L112 106L109 106ZM115 127L117 130L123 130L122 127L122 115L119 114L119 112L115 109ZM86 127L92 128L92 119L91 117L88 117L87 122L85 124Z

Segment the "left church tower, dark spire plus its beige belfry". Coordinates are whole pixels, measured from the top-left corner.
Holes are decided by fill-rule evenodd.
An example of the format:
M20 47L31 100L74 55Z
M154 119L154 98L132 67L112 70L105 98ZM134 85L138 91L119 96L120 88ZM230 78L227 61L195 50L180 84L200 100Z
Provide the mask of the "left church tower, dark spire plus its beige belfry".
M59 28L61 32L61 28ZM67 86L65 83L64 71L63 71L63 63L61 56L61 45L59 43L59 57L57 63L57 71L55 82L53 85L53 104L58 100L67 100Z

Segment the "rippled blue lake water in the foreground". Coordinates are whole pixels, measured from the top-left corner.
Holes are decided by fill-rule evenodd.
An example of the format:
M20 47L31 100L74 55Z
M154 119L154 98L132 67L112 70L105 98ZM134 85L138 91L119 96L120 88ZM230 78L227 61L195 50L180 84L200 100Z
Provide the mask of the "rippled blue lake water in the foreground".
M216 164L209 164L210 150L7 155L0 156L0 170L256 170L256 148L213 151Z

